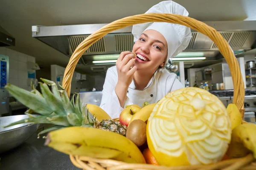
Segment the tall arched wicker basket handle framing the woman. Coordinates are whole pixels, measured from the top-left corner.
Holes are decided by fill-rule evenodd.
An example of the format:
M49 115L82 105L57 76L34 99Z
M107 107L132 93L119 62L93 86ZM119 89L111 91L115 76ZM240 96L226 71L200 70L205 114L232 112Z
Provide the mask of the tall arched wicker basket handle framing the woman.
M216 31L214 28L208 26L207 24L195 20L191 17L186 17L178 14L158 14L158 13L149 13L149 14L139 14L130 17L125 17L120 20L116 20L112 23L109 23L106 26L103 26L98 31L91 34L85 40L83 40L73 52L68 65L65 69L64 78L63 78L63 87L67 90L68 96L70 96L71 81L73 73L76 68L76 64L79 61L80 57L84 52L96 41L104 37L106 34L118 30L120 28L125 28L127 26L132 26L140 23L148 22L166 22L166 23L175 23L189 28L194 29L195 31L201 32L202 34L208 36L218 47L221 54L227 61L227 64L230 68L231 77L234 85L234 96L233 103L239 108L241 117L244 116L244 82L242 79L239 63L230 48L227 41L221 36L221 34Z

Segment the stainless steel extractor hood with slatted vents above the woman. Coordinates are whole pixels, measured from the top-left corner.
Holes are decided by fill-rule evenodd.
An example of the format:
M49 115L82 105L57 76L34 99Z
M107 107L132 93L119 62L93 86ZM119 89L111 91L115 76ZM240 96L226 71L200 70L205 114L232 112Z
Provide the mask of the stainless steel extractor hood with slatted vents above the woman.
M204 22L215 28L230 44L233 51L248 51L256 48L256 21L214 21ZM86 24L71 26L33 26L32 37L55 48L70 57L76 47L86 37L107 24ZM132 27L122 28L107 34L94 43L82 56L89 63L97 54L118 54L121 51L131 51L134 37ZM209 37L192 31L192 40L185 51L206 51L209 57L219 58L218 48Z

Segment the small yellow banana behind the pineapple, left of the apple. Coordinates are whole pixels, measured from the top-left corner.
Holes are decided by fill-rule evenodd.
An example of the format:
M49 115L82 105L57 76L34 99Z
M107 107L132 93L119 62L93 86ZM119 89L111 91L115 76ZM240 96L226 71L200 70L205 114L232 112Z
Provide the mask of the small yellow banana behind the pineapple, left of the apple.
M106 113L102 108L100 108L97 105L93 105L93 104L86 104L86 108L88 109L88 111L94 116L96 117L96 119L101 122L102 119L106 120L106 119L111 119L111 117L108 115L108 113Z

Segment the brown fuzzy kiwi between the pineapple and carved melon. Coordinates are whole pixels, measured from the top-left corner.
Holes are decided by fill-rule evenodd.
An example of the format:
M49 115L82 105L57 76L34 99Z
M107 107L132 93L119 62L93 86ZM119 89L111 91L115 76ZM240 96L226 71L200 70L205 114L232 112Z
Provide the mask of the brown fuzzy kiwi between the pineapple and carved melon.
M146 123L140 119L134 120L129 123L126 130L126 137L130 139L138 147L146 142Z

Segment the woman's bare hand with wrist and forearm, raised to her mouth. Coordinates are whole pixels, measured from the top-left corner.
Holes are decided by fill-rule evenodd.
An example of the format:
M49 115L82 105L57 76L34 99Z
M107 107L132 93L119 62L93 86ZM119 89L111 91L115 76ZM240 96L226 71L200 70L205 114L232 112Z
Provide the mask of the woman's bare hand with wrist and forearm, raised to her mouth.
M135 59L136 55L134 53L131 53L130 51L124 51L119 55L116 61L118 81L116 84L115 92L122 108L125 104L128 87L132 82L135 71L137 70L137 67L134 66Z

